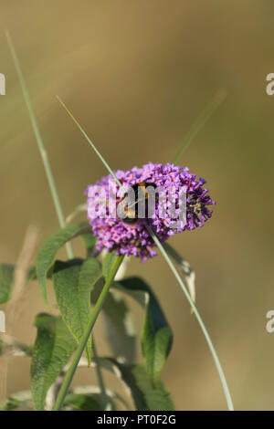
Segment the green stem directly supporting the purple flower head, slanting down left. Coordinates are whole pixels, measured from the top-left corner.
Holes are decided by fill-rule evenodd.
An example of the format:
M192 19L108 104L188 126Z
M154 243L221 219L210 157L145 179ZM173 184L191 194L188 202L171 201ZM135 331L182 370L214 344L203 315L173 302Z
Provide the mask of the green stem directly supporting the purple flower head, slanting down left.
M113 281L113 278L115 277L115 274L117 273L118 268L121 266L122 259L123 259L123 256L117 256L115 263L111 267L111 273L110 273L109 277L106 279L105 285L100 292L100 297L98 298L98 300L95 304L95 307L94 307L94 309L90 315L90 320L89 320L88 326L84 332L83 338L79 342L79 346L75 352L75 355L73 357L73 361L70 364L70 367L68 369L65 380L62 384L62 387L61 387L60 391L58 392L58 398L57 398L57 401L56 401L54 408L53 408L54 411L60 410L63 403L64 403L64 399L65 399L66 394L68 392L70 382L72 381L73 375L74 375L74 373L77 369L77 366L79 364L79 360L81 358L81 355L82 355L83 351L85 350L87 342L90 338L91 331L92 331L94 324L95 324L95 322L99 316L100 309L102 308L103 303L104 303L105 299L107 298L108 292L111 288L111 283Z

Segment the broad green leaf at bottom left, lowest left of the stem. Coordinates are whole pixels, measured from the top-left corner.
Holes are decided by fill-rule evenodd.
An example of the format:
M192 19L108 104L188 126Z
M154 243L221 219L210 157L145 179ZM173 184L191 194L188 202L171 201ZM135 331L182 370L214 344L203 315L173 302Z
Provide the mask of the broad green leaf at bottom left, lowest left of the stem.
M41 313L35 320L37 340L31 362L31 392L36 410L43 410L47 390L57 379L76 343L60 317Z

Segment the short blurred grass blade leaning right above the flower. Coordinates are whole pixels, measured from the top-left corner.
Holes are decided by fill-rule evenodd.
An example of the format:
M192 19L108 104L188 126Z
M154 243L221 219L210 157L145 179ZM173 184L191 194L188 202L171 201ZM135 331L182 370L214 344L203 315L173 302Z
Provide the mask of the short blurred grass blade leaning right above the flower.
M215 97L207 104L205 110L202 111L200 116L188 131L184 140L179 147L178 151L175 153L172 162L174 164L178 163L185 149L190 145L190 143L195 139L196 134L204 127L207 120L211 118L217 107L226 99L227 92L224 89L219 89Z

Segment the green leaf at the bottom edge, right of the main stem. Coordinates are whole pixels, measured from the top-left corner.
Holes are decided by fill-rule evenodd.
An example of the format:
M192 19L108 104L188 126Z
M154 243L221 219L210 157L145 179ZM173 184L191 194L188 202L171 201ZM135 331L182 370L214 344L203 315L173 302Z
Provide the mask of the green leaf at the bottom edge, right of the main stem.
M100 358L100 365L128 386L137 411L174 411L174 402L163 382L158 378L152 386L142 365L125 365L113 358Z

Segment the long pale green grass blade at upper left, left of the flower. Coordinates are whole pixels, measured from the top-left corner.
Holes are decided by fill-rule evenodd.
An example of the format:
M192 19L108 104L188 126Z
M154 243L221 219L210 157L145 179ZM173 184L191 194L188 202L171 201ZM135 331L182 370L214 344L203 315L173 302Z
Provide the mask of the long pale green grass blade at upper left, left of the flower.
M7 39L7 43L8 43L10 52L11 52L11 56L12 56L14 64L15 64L16 73L17 73L17 76L18 76L18 79L20 82L20 87L22 89L24 99L26 102L26 108L28 110L29 118L30 118L30 121L31 121L31 124L33 127L33 131L34 131L35 136L36 136L38 150L40 152L42 162L44 164L45 172L47 175L47 182L49 185L49 189L51 192L53 203L55 205L56 213L58 215L59 225L61 228L63 228L64 226L66 226L65 217L64 217L63 210L62 210L60 200L58 197L58 191L57 191L57 187L56 187L56 184L54 181L54 177L53 177L53 173L52 173L52 170L50 167L50 163L47 159L47 151L45 149L45 145L44 145L44 142L42 140L42 136L41 136L41 133L39 131L38 124L37 124L37 118L36 118L35 112L32 108L32 104L31 104L31 101L29 98L28 90L26 88L26 81L25 81L25 78L23 76L23 72L22 72L22 69L20 67L19 60L18 60L17 55L16 55L16 49L14 47L12 38L10 37L7 30L5 30L5 37ZM72 252L71 244L66 243L66 247L67 247L67 252L68 252L68 258L72 258L73 252Z

